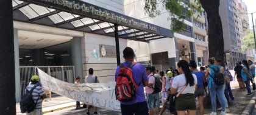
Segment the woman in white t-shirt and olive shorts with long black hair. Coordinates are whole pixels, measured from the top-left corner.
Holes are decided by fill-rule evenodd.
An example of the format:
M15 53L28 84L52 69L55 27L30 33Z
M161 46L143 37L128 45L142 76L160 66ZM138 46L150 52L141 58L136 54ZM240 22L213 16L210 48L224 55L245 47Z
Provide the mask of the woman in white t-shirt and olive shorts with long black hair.
M174 77L171 86L171 94L180 92L179 97L176 98L176 110L179 115L196 114L196 100L194 98L194 91L196 90L197 78L192 74L188 61L180 60L177 64L180 75ZM182 88L185 88L182 91Z

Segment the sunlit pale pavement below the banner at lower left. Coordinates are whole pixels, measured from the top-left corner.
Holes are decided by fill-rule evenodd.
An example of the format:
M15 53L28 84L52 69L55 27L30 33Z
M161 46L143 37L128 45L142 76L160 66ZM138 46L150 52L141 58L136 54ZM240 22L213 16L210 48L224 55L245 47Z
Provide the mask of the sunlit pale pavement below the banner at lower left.
M43 102L43 113L48 113L55 110L60 110L63 108L69 108L71 106L76 106L76 101L69 99L68 97L57 96L52 97L52 100L47 99L47 102ZM20 113L20 103L16 103L16 114Z

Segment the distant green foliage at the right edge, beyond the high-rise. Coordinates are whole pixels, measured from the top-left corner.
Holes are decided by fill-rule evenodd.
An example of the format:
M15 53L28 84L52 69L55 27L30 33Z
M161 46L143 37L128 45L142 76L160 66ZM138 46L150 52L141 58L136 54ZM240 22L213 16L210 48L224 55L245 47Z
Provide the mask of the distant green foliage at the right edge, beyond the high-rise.
M250 32L242 39L243 45L242 50L247 51L248 49L255 48L254 33Z

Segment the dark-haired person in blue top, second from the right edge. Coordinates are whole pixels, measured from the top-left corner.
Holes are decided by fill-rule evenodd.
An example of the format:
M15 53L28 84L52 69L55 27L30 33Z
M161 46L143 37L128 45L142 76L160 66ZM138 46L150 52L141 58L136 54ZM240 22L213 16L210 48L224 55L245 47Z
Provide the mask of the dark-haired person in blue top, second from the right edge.
M246 85L246 89L247 89L247 94L246 96L251 96L252 92L251 92L251 86L250 86L250 78L252 78L252 75L250 74L250 68L249 68L249 64L247 62L247 60L243 60L242 61L244 67L241 71L241 75L244 81L244 84Z

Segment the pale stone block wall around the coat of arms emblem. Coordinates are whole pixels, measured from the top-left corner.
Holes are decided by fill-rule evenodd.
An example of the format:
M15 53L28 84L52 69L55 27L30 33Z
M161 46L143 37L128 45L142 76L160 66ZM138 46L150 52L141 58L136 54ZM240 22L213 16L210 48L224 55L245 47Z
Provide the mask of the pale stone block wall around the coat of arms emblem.
M102 35L95 35L91 33L85 33L85 37L82 39L82 63L83 63L83 75L88 75L88 69L94 69L94 75L99 77L99 82L108 82L115 80L116 71L116 58L100 57L101 60L97 60L91 55L94 47L98 55L100 55L99 44L105 44L109 46L115 46L115 38L106 37ZM123 50L127 47L127 40L119 39L120 57L121 62L123 59Z

